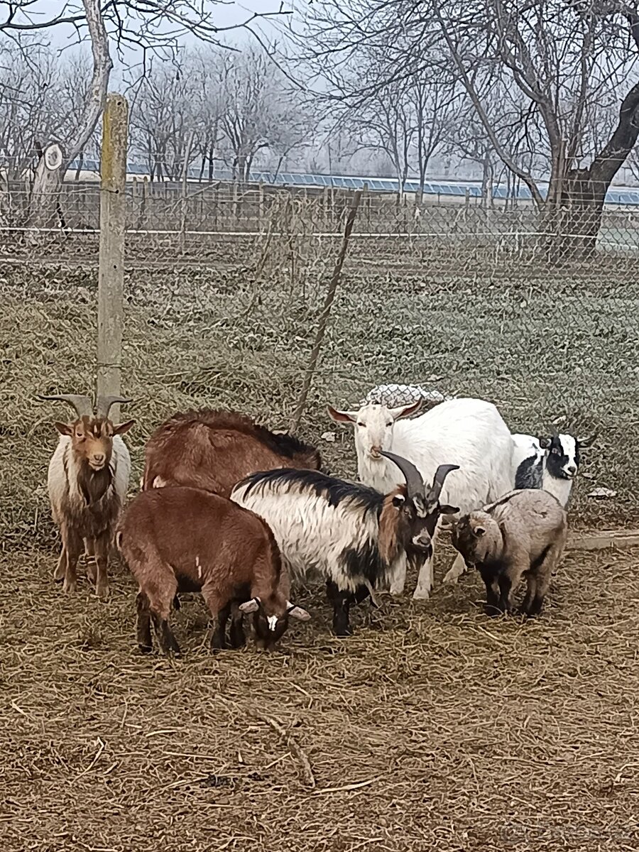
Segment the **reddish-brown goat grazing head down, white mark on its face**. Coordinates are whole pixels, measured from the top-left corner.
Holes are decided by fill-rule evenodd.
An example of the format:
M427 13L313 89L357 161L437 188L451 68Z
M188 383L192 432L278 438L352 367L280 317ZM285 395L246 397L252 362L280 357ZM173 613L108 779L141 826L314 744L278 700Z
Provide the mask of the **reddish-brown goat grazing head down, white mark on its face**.
M117 533L118 548L138 583L137 641L153 649L151 619L161 650L180 653L169 625L178 591L200 591L216 619L211 648L245 642L241 619L253 613L258 643L273 648L289 618L310 615L288 600L289 579L268 525L247 509L199 488L163 487L140 492Z

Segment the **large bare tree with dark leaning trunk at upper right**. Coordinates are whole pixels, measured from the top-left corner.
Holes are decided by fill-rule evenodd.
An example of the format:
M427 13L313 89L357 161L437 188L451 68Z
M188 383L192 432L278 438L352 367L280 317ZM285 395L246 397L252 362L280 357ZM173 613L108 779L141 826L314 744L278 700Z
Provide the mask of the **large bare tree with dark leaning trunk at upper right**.
M639 135L634 3L315 0L292 39L300 58L328 80L363 49L383 51L385 66L377 83L367 83L369 92L414 76L431 61L429 52L447 52L495 152L530 189L555 256L594 250L607 187ZM525 102L521 130L543 134L545 174L523 165L521 141L515 151L499 138L486 101L495 86ZM617 121L603 144L591 148L590 130L611 95ZM532 141L528 151L537 165Z

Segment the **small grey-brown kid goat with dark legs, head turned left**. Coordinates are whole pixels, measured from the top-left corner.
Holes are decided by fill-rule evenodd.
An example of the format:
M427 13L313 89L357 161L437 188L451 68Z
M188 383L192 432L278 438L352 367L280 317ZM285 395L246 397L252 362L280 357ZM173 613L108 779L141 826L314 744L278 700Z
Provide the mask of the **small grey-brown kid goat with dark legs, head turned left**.
M517 490L459 519L452 544L486 584L486 614L508 613L522 577L527 592L521 613L538 615L561 560L567 514L541 490Z

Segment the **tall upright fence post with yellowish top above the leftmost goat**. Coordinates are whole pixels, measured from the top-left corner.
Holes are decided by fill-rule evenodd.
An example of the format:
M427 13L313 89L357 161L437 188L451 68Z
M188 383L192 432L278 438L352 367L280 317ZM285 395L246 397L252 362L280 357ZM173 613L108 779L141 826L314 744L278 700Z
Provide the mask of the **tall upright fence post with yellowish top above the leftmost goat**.
M124 216L129 104L107 95L102 116L100 161L100 272L98 274L98 359L96 394L120 394L124 290ZM112 406L112 419L119 419Z

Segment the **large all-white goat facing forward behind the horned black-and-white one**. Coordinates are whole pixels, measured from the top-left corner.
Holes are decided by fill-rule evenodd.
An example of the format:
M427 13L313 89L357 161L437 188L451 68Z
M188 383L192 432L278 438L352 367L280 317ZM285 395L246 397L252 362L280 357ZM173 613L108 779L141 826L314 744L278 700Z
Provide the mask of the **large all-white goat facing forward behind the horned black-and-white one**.
M417 412L420 405L417 401L409 406L387 408L369 403L358 412L337 411L328 406L333 420L354 425L360 481L384 493L396 485L394 466L383 458L385 449L410 459L425 481L432 479L441 463L456 463L460 470L446 481L445 499L458 505L463 513L509 491L513 441L491 402L446 400L414 420L402 420ZM463 570L463 559L458 556L444 582L455 581ZM432 585L431 556L419 572L413 597L428 598Z

